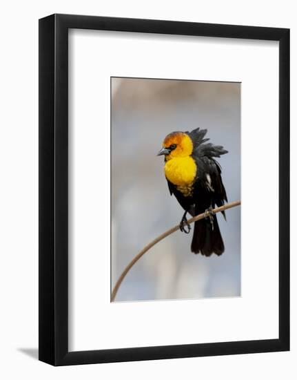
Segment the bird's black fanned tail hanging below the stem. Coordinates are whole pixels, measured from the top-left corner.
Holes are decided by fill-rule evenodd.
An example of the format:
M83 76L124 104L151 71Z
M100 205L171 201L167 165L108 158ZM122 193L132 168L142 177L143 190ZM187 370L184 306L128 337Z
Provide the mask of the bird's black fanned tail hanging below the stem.
M216 254L220 256L225 251L223 238L216 215L213 216L213 226L209 218L198 220L194 224L194 234L192 238L191 250L194 254L201 253L204 256Z

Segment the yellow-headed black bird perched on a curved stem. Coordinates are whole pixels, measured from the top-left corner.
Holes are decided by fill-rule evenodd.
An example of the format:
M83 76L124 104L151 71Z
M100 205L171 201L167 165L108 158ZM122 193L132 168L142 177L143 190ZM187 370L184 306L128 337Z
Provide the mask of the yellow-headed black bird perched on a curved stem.
M223 146L214 145L205 138L207 129L172 132L163 140L163 147L157 155L165 156L164 172L170 195L174 194L185 213L180 222L181 231L190 233L187 213L205 218L194 223L191 251L203 256L225 251L223 238L218 226L215 206L227 202L222 180L222 168L216 158L228 153ZM225 211L222 211L226 220Z

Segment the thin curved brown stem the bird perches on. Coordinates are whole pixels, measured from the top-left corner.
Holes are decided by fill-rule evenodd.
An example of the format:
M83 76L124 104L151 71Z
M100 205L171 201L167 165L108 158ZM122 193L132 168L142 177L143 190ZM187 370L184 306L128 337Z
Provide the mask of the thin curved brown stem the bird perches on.
M224 211L224 210L227 210L227 209L231 209L232 207L236 207L236 206L239 206L239 205L240 205L240 200L236 200L235 202L228 203L227 205L224 205L224 206L221 206L221 207L217 207L216 209L213 209L212 212L213 213L218 213L218 212L221 212L221 211ZM193 218L188 219L187 222L189 224L191 224L193 222L196 222L197 220L201 220L201 219L207 217L208 215L209 215L209 211L207 211L207 213L200 213L199 215L196 215ZM151 249L152 247L154 247L154 245L156 245L156 243L158 243L159 241L163 240L167 236L173 234L175 231L178 231L178 229L179 229L179 225L177 225L175 227L172 227L171 229L168 229L163 234L161 234L160 236L158 236L157 238L155 238L154 240L152 240L151 243L147 244L139 252L139 254L137 254L130 261L130 263L127 265L127 267L125 267L125 269L123 270L123 273L121 274L121 276L119 276L119 280L116 281L116 285L114 285L114 289L112 290L111 302L114 301L114 298L116 298L116 293L118 292L119 287L121 286L121 283L123 282L123 279L125 278L126 274L130 271L130 269L133 267L133 265L141 258L141 256L143 256L145 254L145 252L147 252L149 249Z

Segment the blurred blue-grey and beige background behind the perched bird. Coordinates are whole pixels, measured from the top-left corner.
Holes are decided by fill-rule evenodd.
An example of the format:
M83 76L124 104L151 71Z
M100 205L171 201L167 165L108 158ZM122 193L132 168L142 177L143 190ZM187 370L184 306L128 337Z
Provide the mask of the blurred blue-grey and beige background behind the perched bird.
M180 222L156 153L168 133L198 126L229 151L218 162L228 200L240 200L239 83L112 78L112 287L147 243ZM177 231L132 267L116 301L240 296L240 207L226 213L227 222L218 215L222 256L192 254L192 231Z

